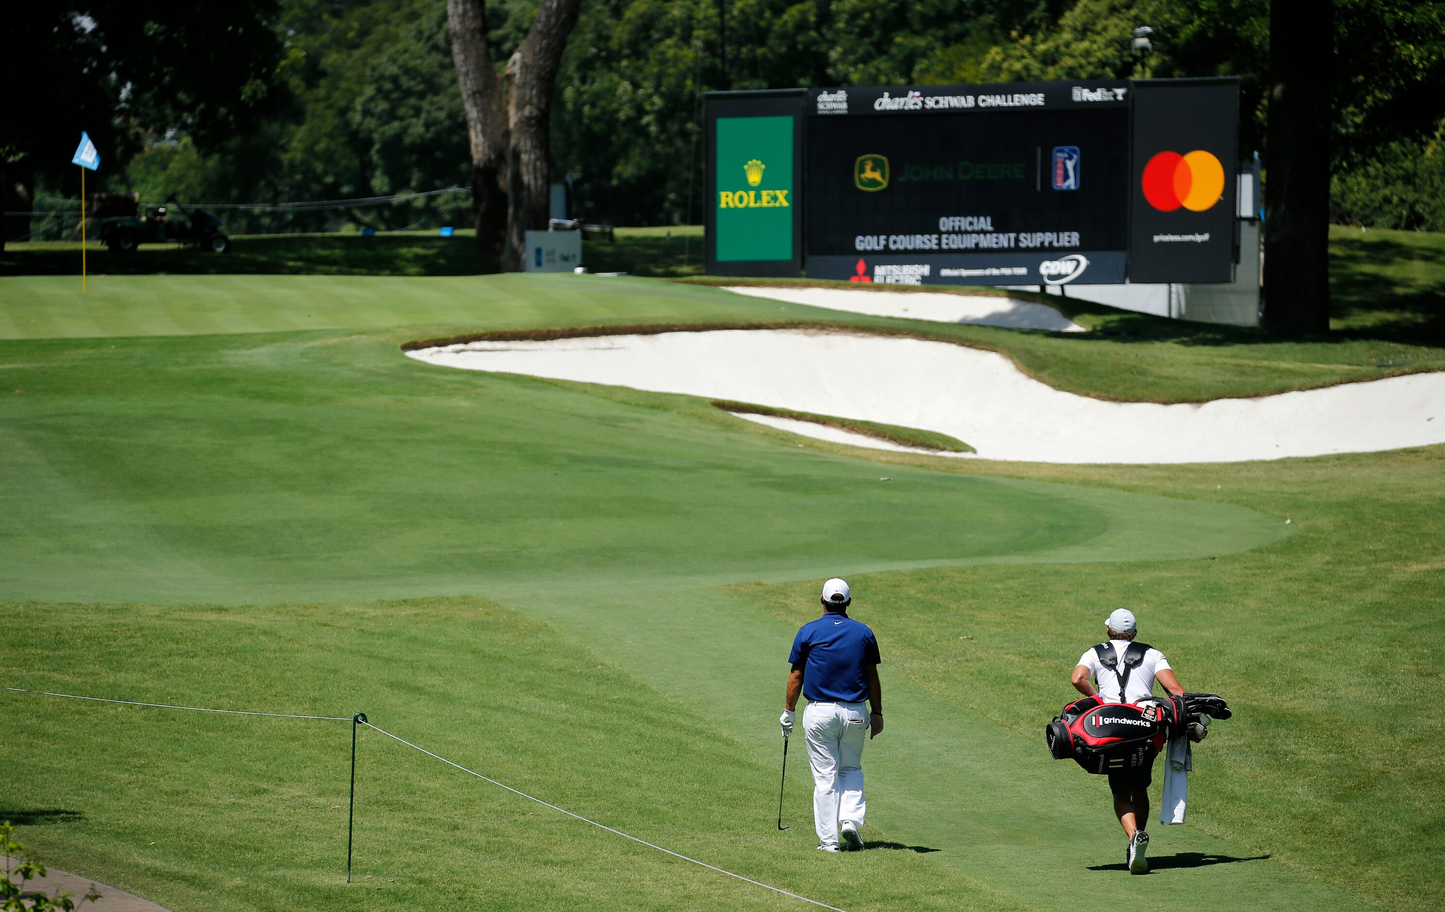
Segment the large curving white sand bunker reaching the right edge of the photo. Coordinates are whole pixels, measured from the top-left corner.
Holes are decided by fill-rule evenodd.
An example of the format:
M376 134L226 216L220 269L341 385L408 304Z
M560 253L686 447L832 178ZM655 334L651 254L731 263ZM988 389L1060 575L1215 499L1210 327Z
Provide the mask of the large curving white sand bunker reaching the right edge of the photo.
M939 431L990 460L1233 463L1445 442L1445 373L1204 405L1065 393L1003 356L844 332L709 331L471 343L432 364L608 383ZM790 428L824 436L829 428Z

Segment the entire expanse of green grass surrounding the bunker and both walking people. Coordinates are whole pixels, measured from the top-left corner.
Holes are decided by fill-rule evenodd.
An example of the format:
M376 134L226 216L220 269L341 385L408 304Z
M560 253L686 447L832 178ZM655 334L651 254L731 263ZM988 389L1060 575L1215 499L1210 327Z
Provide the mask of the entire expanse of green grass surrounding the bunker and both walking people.
M364 711L850 911L1445 900L1442 447L1233 467L870 454L702 399L445 370L400 345L802 321L945 334L1025 367L1069 347L1082 389L1129 343L640 279L113 276L84 299L68 282L0 279L0 685ZM1379 345L1283 373L1379 376ZM1237 348L1222 360L1267 360ZM1211 370L1165 397L1277 389L1263 367ZM866 754L879 850L844 857L812 850L801 760L793 827L772 818L783 659L829 575L879 632L890 704ZM1040 736L1120 606L1186 688L1238 711L1196 752L1189 824L1152 827L1149 877L1117 870L1103 780ZM1370 687L1340 687L1355 684L1342 649L1379 663ZM176 912L803 908L368 730L347 886L345 723L9 692L0 718L0 818L46 861ZM1360 734L1332 743L1342 727Z

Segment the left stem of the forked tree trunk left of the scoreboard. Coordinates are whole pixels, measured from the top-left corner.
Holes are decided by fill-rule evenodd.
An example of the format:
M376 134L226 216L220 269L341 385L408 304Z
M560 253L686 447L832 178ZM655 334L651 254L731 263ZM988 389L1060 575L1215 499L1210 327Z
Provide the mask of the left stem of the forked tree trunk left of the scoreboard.
M457 85L471 146L471 204L481 272L501 272L507 246L507 107L487 45L486 0L447 0Z

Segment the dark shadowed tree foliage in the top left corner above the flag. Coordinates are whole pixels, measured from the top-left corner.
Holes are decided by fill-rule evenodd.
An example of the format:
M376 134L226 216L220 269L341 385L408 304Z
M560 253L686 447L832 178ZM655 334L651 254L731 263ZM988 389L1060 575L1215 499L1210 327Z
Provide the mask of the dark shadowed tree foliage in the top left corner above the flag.
M276 10L276 0L32 0L7 10L6 210L33 208L38 175L78 184L69 160L82 129L107 165L120 165L144 132L214 149L272 113L285 59ZM25 220L6 220L6 238L27 231Z

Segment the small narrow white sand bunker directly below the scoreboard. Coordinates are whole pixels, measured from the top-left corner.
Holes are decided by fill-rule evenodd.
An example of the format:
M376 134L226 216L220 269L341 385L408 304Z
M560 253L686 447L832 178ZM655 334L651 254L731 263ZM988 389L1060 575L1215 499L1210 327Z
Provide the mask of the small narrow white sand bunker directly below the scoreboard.
M907 317L932 322L971 322L1010 330L1049 330L1052 332L1088 332L1046 304L990 298L987 295L946 295L942 292L864 292L841 288L753 288L730 286L725 291L753 298L789 304L871 314Z

